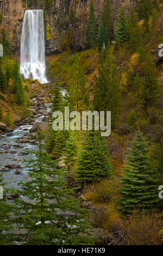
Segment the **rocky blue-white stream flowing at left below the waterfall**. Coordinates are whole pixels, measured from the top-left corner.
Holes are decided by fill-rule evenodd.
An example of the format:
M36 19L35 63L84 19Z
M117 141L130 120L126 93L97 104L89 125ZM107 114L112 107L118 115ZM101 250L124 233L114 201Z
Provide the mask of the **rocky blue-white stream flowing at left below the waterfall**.
M49 104L45 104L40 111L49 112ZM39 114L38 118L35 118L34 121L39 123L44 123L42 118L44 116ZM32 155L23 155L19 154L24 153L24 150L36 151L37 144L33 139L30 139L27 143L17 143L17 140L23 138L24 136L30 136L30 128L32 124L24 123L21 126L16 127L13 132L5 133L4 137L0 139L0 151L7 149L7 153L0 154L0 169L4 168L7 164L19 164L20 169L9 169L8 172L3 173L3 181L6 183L6 187L9 188L20 188L17 185L17 182L25 181L28 179L27 169L25 168L27 163L23 163L23 159L31 159ZM14 152L14 154L13 154ZM16 171L20 171L20 174L15 174Z

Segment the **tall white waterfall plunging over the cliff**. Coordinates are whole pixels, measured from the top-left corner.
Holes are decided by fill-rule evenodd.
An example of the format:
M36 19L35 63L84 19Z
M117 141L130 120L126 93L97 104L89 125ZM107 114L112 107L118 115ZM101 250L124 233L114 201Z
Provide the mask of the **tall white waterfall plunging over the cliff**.
M20 72L24 78L47 83L43 10L26 10L21 35Z

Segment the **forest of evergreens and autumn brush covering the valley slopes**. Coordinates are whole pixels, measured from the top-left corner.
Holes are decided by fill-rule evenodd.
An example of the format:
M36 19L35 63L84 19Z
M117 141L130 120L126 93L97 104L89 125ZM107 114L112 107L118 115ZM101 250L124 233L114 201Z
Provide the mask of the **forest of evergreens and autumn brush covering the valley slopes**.
M115 28L111 1L98 22L91 0L82 51L73 48L71 6L62 52L46 56L47 84L21 77L2 28L0 143L18 123L37 118L40 95L48 95L49 112L46 127L32 123L37 150L24 153L28 179L19 188L4 184L0 159L0 245L163 245L163 3L135 4L128 14L121 7ZM51 0L23 6L52 15ZM48 41L46 20L45 30ZM111 111L111 135L102 137L95 119L91 131L55 131L53 113L65 115L65 107L81 115Z

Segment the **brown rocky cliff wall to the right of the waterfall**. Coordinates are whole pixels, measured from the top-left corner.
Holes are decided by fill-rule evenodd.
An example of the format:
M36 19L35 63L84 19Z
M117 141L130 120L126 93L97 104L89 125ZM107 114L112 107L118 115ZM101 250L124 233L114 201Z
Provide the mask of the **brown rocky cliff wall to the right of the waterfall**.
M47 36L47 54L58 53L62 51L63 41L65 39L66 30L73 31L74 41L73 47L76 50L86 48L85 30L89 17L89 5L91 0L53 0L52 15L47 14L46 32ZM98 23L104 10L105 0L95 0L96 16ZM134 0L112 0L111 5L114 14L114 28L117 25L118 14L123 5L126 13L129 13ZM71 5L76 14L76 24L72 28L68 22Z

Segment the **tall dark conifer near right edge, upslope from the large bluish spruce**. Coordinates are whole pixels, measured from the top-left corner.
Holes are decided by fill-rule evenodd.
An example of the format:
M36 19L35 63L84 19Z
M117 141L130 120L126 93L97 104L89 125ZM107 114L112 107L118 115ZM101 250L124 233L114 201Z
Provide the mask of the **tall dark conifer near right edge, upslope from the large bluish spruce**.
M155 76L155 64L151 53L145 54L145 60L143 64L143 90L142 90L142 105L145 109L151 106L159 97L159 82Z

